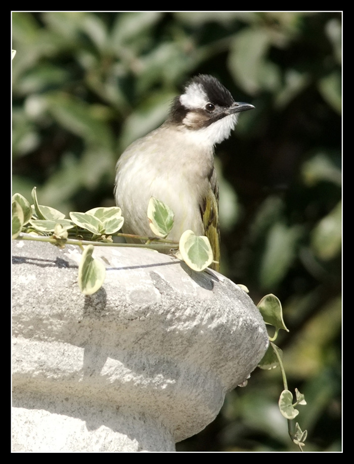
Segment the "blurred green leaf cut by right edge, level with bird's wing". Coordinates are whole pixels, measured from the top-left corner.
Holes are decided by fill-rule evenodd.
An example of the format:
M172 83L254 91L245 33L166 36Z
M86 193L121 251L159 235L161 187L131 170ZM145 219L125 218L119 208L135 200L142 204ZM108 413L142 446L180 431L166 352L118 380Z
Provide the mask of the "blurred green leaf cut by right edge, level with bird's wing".
M340 253L342 244L342 202L327 214L311 233L311 246L316 256L333 259Z

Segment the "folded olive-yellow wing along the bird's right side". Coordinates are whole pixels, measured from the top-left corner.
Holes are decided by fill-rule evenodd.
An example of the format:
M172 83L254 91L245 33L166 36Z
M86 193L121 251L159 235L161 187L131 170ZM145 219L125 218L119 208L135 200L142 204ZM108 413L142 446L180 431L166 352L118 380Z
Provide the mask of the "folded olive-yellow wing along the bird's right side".
M214 261L210 268L219 270L220 261L220 229L219 229L219 187L215 168L213 168L209 177L210 189L200 205L202 214L204 233L208 238L214 255Z

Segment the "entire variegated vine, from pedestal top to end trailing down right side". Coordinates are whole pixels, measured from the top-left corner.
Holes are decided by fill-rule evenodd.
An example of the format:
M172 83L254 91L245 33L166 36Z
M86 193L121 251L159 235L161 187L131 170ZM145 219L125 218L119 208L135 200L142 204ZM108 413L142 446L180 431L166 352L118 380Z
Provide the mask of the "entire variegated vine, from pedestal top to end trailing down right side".
M20 194L12 198L12 238L17 240L35 240L50 242L64 248L66 244L77 245L82 250L82 257L78 269L78 285L84 295L97 292L105 279L104 264L93 257L94 247L99 246L128 246L164 248L166 244L174 249L177 256L183 259L192 269L202 271L212 260L212 250L206 237L197 237L191 230L185 231L180 242L167 240L173 226L173 212L158 199L151 197L147 216L151 230L156 237L127 236L119 233L124 218L119 207L93 208L85 213L71 212L70 219L60 211L49 206L39 205L36 188L32 190L33 204ZM25 233L25 235L23 234ZM145 241L144 244L113 243L112 236L136 238ZM177 251L179 250L179 252ZM247 291L247 288L241 286ZM271 369L279 365L282 373L284 390L279 398L279 408L288 420L288 431L292 441L302 451L307 431L302 431L298 423L293 425L293 419L298 415L298 405L306 404L303 394L295 389L296 399L288 390L286 375L282 362L282 350L274 344L280 329L285 326L282 306L274 295L266 295L257 305L264 322L275 328L275 334L270 337L270 346L259 363L262 369Z

